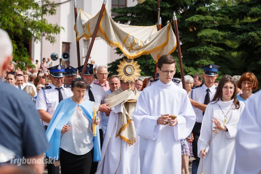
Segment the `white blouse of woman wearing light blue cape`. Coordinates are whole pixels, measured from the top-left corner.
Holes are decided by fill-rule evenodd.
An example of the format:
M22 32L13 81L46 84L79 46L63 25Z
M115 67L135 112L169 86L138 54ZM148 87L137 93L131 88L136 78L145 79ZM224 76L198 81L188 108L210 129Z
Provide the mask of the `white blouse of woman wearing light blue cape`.
M61 135L60 148L75 155L84 155L93 149L93 132L87 116L76 109L67 125L70 130Z

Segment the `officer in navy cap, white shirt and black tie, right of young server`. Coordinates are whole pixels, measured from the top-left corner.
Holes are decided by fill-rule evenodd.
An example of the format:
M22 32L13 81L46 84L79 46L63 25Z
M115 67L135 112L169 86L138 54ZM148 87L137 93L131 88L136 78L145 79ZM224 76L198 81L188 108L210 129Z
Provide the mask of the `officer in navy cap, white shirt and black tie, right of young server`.
M192 174L197 173L197 168L200 162L200 158L197 156L197 141L200 136L200 129L206 106L213 99L217 90L217 87L214 85L214 83L218 78L218 69L220 66L209 64L202 66L201 68L204 68L202 76L205 79L205 83L203 85L192 88L189 94L193 110L196 114L196 123L192 130L194 137L192 142L192 151L195 158L195 160L192 161Z

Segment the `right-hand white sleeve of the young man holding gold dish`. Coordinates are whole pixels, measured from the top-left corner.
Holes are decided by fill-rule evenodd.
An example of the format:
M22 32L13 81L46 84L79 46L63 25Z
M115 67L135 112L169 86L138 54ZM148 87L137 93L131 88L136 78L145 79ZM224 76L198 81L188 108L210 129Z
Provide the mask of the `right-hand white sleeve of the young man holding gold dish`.
M196 122L196 115L187 93L183 93L182 100L180 113L177 115L177 125L174 126L174 136L176 141L187 138Z

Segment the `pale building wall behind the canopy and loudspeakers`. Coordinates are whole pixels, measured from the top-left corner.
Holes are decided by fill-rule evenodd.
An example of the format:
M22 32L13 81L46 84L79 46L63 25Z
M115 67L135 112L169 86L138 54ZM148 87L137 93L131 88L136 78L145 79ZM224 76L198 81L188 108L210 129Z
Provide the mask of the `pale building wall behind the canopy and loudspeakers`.
M67 0L55 0L55 3L62 3ZM97 12L102 7L103 0L77 0L77 5L86 13L91 15L96 15ZM111 3L112 0L107 0L106 8L111 15ZM127 0L127 6L135 6L137 1ZM78 67L77 63L77 49L76 49L76 35L74 31L75 25L75 17L74 17L74 0L68 1L66 3L59 4L57 7L57 13L55 16L45 16L44 19L48 20L48 23L57 23L59 26L62 26L64 30L61 30L59 35L55 35L56 43L50 44L49 41L46 41L43 38L42 43L32 43L32 52L33 52L33 60L36 59L40 61L41 58L41 44L43 44L42 48L42 57L46 59L50 57L53 52L56 52L59 57L62 54L62 42L70 43L70 65L73 67ZM84 64L85 56L84 56L84 42L83 39L79 41L80 46L80 58L81 65ZM119 59L119 55L115 54L115 48L111 48L102 40L96 40L93 45L93 49L90 55L90 59L94 60L98 65L107 65L108 63ZM59 64L59 59L54 61L54 66Z

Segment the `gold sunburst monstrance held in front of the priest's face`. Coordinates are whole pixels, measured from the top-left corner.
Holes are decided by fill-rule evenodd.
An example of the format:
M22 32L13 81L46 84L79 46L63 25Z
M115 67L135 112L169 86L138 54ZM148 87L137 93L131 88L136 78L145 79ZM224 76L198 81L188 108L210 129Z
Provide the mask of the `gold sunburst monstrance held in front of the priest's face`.
M139 72L141 72L141 70L139 67L140 65L137 64L137 61L128 58L124 58L118 65L118 75L122 81L129 83L129 90L131 90L131 82L135 82L140 76ZM137 102L137 100L128 100L128 102Z

